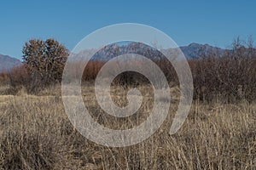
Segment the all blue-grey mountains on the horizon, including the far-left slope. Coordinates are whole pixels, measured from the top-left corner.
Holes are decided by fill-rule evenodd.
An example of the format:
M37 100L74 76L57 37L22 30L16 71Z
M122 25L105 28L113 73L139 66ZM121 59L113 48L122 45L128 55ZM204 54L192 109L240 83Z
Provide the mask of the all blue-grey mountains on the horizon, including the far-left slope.
M212 52L218 52L218 54L224 54L224 52L227 49L223 48L217 48L212 47L208 44L199 44L199 43L191 43L188 46L180 47L180 49L183 51L183 54L187 59L195 59L199 58L204 54L210 54ZM171 53L173 53L173 49L166 49L169 50ZM81 52L86 53L86 51ZM114 56L118 56L120 54L127 54L127 53L136 53L136 54L142 54L149 58L155 58L155 56L160 57L160 53L157 50L153 50L152 48L148 47L147 45L144 45L140 42L131 42L126 45L117 45L117 44L111 44L104 48L102 48L100 51L98 51L93 59L99 59L99 60L108 60L112 59ZM21 61L19 59L15 59L13 57L10 57L8 55L0 54L0 71L10 71L12 68L14 68L17 65L21 65Z

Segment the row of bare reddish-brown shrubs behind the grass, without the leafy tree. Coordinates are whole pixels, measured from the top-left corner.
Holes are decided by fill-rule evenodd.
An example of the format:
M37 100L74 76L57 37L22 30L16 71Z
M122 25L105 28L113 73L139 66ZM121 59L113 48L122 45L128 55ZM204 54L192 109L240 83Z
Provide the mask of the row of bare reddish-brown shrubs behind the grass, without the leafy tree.
M177 86L178 79L172 64L166 59L154 62L160 66L167 80ZM83 82L94 82L104 64L103 61L90 60L84 69ZM215 51L196 59L189 59L189 66L194 80L195 99L221 99L226 102L246 99L250 102L256 98L256 50L250 44L246 46L236 42L233 48L226 50L225 53L219 54ZM74 75L82 68L82 62L73 63ZM29 74L23 66L16 67L9 74L1 74L0 79L1 82L8 80L14 90L23 86L32 93L55 83L46 83L47 79L36 73ZM116 77L114 83L134 86L149 81L141 74L128 71Z

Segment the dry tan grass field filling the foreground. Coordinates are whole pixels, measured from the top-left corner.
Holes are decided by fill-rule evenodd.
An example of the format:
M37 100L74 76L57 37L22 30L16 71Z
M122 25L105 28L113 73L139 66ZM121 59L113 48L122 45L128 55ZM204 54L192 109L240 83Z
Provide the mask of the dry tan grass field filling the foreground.
M148 89L141 87L145 104L152 100ZM113 100L121 105L122 89L113 92ZM174 98L170 116L152 137L141 144L108 148L80 135L61 97L45 94L0 96L0 169L255 169L254 104L195 102L183 127L171 136ZM102 113L92 87L85 87L84 95L91 115L107 127L136 126L150 110L150 105L143 105L137 116L118 120Z

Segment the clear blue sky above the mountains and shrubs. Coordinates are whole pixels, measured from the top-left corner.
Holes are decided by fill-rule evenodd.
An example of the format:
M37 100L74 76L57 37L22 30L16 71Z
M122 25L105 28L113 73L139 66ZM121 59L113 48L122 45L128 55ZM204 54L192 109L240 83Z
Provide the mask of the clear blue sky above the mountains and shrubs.
M0 3L0 54L21 59L25 42L53 37L68 49L103 26L154 26L184 46L228 48L240 36L256 38L256 1L13 1ZM256 39L255 39L256 40Z

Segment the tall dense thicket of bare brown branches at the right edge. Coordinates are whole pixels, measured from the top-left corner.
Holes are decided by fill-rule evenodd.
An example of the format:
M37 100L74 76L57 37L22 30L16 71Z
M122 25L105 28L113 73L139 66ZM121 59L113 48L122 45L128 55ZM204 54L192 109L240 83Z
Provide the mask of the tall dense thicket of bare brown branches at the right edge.
M212 53L189 60L196 99L251 102L256 98L256 50L245 45L238 39L222 56Z

